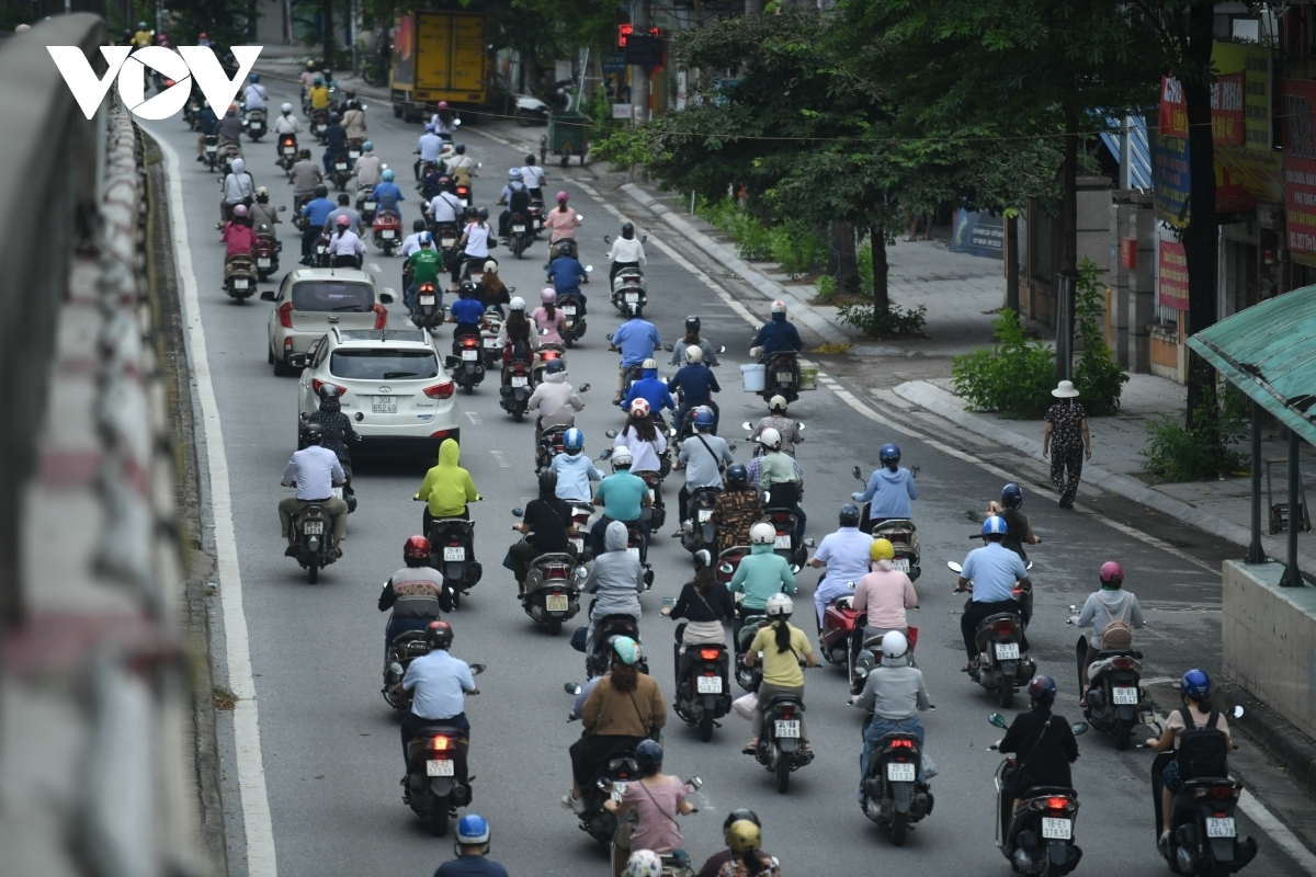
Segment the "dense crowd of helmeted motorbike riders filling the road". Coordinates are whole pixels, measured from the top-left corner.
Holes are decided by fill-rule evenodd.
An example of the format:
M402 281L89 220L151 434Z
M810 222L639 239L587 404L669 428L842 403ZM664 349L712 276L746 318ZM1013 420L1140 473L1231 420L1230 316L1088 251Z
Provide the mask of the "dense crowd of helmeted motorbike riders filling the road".
M303 112L309 118L311 137L324 146L320 162L309 149L296 149L297 135L307 129L291 104L279 108L270 130L276 139L275 159L293 187L296 222L303 229L303 264L361 267L363 238L378 229L380 220L400 227L405 197L395 170L375 154L361 101L351 92L337 103L336 96L332 74L308 64ZM241 107L229 107L222 117L201 107L195 120L201 133L197 160L208 162L216 151L226 159L220 229L230 260L250 258L257 235L272 235L280 222L278 210L270 206L268 189L254 185L241 156L240 135L251 112L265 110L267 99L259 75L253 74ZM575 250L580 217L569 208L565 192L557 193L555 206L545 209L546 174L528 155L524 167L508 172L497 200L505 210L497 230L491 229L488 209L474 206L472 178L479 164L462 143L453 142L457 125L455 114L441 103L418 137L413 175L422 216L397 252L407 259L404 288L413 320L425 296L437 298L441 320L455 323L454 338L478 335L496 314L504 377L509 363L524 360L532 366L528 373L540 379L524 384L525 412L536 415L538 497L516 510L521 522L513 529L521 539L511 546L503 565L516 579L526 613L536 622L549 623L554 632L563 619L576 614L583 597L591 598L588 623L572 636L572 646L586 652L590 677L583 688L572 690L576 701L571 718L580 719L584 731L570 747L574 782L562 798L563 806L592 836L613 844L616 873L696 873L683 851L678 817L694 811L687 795L697 781L683 782L663 773L661 738L669 705L647 675L638 630L640 597L653 582L647 544L666 518L662 481L671 471L684 469L671 536L691 551L694 569L679 597L665 601L662 609L662 615L683 622L674 643L674 709L684 721L699 724L705 740L715 718L730 710L749 718L751 734L744 752L775 773L779 790L786 792L790 772L813 759L803 722L803 671L819 667L821 660L845 665L851 703L869 714L859 752L858 802L870 819L891 827L894 840L903 843L909 823L932 811L929 780L934 773L923 749L925 728L919 718L932 705L913 660L917 630L908 615L919 606L912 506L919 498L917 468L901 467L900 448L883 444L879 467L865 489L840 506L837 529L809 557L807 550L813 543L805 539L800 505L804 476L796 459L804 442L803 425L787 413L797 398L797 352L803 343L787 320L786 306L772 304L771 320L750 350L766 364L762 394L767 415L745 425L746 438L754 444L753 458L747 464L737 463L733 446L717 435L720 410L715 394L721 388L712 369L722 348L715 348L700 334L697 316L684 321L680 342L662 346L658 329L642 317L649 301L642 280L644 239L636 237L629 222L621 238L612 242L607 291L624 316L608 337L609 348L620 352L612 401L621 409L621 429L609 430L613 446L599 460L591 459L583 433L574 426L575 413L583 408L579 392L588 385L578 391L567 383L563 356L565 346L583 334L586 313L580 285L588 283L588 271L576 260ZM216 145L215 138L218 149L208 150ZM345 188L349 178L357 184L355 206L346 192L332 200L325 184L337 181ZM501 285L490 252L499 243L515 243L513 235L521 234L526 222L533 224L533 237L549 235L550 249L549 283L540 293L540 306L530 313L524 298L509 296ZM375 243L393 252L378 234ZM472 275L483 276L475 283ZM458 296L447 309L442 306L445 291ZM574 305L570 320L563 300ZM669 363L678 371L662 379L658 359L667 351ZM507 396L505 380L501 389ZM350 484L355 434L340 410L334 388L326 385L321 396L320 410L304 426L304 447L293 454L283 477L286 485L296 486L296 496L279 506L290 556L297 552L297 515L308 505L322 506L333 519L330 551L341 552L338 542L346 533L349 502L337 498L334 488ZM608 473L595 465L604 460ZM861 475L858 468L855 475ZM465 697L479 693L474 675L483 669L453 657L454 628L441 618L457 607L480 575L479 564L471 563L468 504L482 497L459 465L454 440L442 442L438 464L425 475L416 498L425 504L422 534L405 540L403 567L379 597L380 611L391 611L384 638L384 694L404 713L404 798L441 831L447 817L471 801L465 764L470 739ZM1040 539L1021 511L1023 500L1019 485L1007 484L1000 500L986 509L983 546L970 551L962 565L953 565L959 572L957 590L970 594L961 615L963 672L984 688L995 688L1001 705L1009 703L1016 688L1026 690L1030 709L1015 719L995 747L1011 755L998 776L999 845L1020 873L1044 873L1049 868L1045 873L1063 874L1082 856L1073 843L1078 798L1070 765L1078 757L1075 732L1088 726L1071 726L1053 713L1057 684L1036 673L1036 664L1026 656L1032 582L1025 546ZM597 514L591 526L592 513ZM465 526L461 546L447 533L454 523ZM465 554L453 552L454 547ZM451 565L457 556L466 561L466 572ZM797 623L792 600L796 576L805 564L822 571L811 626L817 648ZM1142 613L1137 598L1123 586L1119 563L1105 563L1098 584L1100 588L1071 618L1071 623L1091 630L1076 648L1079 706L1094 724L1100 726L1103 715L1108 718L1117 743L1123 735L1126 746L1126 727L1148 710L1141 706L1136 676L1133 689L1119 685L1119 680L1112 688L1105 673L1128 671L1141 657L1132 650L1132 631L1142 626ZM732 630L729 650L724 625ZM754 696L732 702L730 678ZM1130 703L1128 697L1112 703L1112 692L1129 690L1136 692L1133 713L1113 711L1116 705ZM1182 697L1183 709L1170 715L1163 734L1148 746L1167 753L1158 760L1153 777L1161 852L1173 865L1191 869L1196 868L1194 856L1209 847L1204 847L1207 838L1184 834L1192 823L1180 813L1180 792L1212 777L1219 782L1232 743L1225 717L1213 709L1211 680L1203 671L1184 673ZM999 717L994 723L1005 726ZM445 773L447 768L434 768L445 763L425 751L430 739L436 746L445 740L445 747L451 742L451 774ZM911 761L913 767L908 767ZM443 776L453 776L455 782L445 785ZM432 782L437 785L430 788ZM901 793L904 786L911 794ZM1217 801L1216 806L1224 803ZM1232 809L1229 813L1232 817ZM1221 815L1212 819L1220 822ZM1232 818L1229 824L1233 848L1215 849L1212 855L1229 859L1236 870L1255 853L1255 844L1252 839L1234 843ZM488 859L490 826L483 818L462 817L455 834L458 857L440 874L505 874ZM1224 834L1221 830L1211 838ZM778 860L762 849L761 820L751 810L733 810L724 835L726 849L697 869L700 877L780 873Z

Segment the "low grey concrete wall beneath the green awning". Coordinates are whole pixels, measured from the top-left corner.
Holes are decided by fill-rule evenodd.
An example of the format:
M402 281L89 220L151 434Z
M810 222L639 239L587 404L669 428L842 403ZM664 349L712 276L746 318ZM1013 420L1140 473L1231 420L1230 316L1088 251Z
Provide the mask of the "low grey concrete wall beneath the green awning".
M1280 588L1278 563L1224 564L1224 673L1316 738L1316 588Z

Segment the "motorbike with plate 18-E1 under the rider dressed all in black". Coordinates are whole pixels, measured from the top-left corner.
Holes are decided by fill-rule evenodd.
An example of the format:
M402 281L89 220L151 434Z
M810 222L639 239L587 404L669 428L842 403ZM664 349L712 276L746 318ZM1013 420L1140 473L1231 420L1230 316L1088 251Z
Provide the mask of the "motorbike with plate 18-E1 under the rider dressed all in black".
M995 727L1005 727L1005 718L1000 713L992 713L987 721ZM1078 736L1087 732L1087 724L1080 722L1070 726L1070 730ZM995 752L996 744L992 743L987 749ZM1009 827L1003 838L1003 793L1007 776L1016 767L1016 760L1007 757L996 768L996 845L1017 873L1063 877L1078 868L1083 857L1083 851L1074 843L1078 793L1062 786L1021 789L1015 798ZM1158 799L1157 811L1159 810Z

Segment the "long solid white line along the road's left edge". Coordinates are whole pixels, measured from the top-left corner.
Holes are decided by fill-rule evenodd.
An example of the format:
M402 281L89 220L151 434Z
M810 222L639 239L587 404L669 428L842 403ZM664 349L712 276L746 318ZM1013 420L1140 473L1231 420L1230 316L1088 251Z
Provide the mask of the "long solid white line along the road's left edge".
M237 696L233 707L233 747L237 753L238 789L242 798L242 828L246 835L249 877L275 877L274 826L270 797L265 788L265 760L261 755L261 721L251 677L251 652L246 614L242 610L242 572L238 567L237 538L233 533L233 502L229 493L229 462L224 454L220 406L211 383L211 363L205 351L205 327L197 297L196 273L187 237L183 209L183 181L178 154L163 139L155 141L164 155L168 178L170 218L174 227L174 264L183 289L182 305L187 322L192 379L201 402L205 431L205 459L211 471L211 506L215 514L215 548L220 567L220 605L224 610L224 639L228 646L229 688Z

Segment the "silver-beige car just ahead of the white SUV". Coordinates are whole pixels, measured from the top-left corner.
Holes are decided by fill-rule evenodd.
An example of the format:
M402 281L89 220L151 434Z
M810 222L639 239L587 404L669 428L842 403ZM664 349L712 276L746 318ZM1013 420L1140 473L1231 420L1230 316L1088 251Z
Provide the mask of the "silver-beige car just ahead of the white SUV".
M388 325L391 295L379 293L375 281L357 268L297 268L267 289L262 301L272 301L268 352L275 375L291 375L288 358L305 354L330 326L340 330L383 329Z

